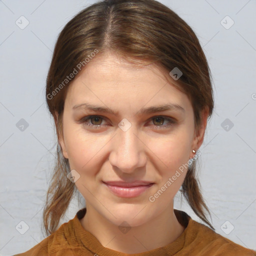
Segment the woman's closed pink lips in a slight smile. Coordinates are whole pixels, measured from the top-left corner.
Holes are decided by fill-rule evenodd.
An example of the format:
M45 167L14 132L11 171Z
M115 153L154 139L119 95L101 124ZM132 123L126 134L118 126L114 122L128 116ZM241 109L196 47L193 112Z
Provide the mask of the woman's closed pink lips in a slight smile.
M146 189L152 186L154 183L144 180L136 180L133 182L124 181L102 181L111 192L120 197L136 197L142 194Z

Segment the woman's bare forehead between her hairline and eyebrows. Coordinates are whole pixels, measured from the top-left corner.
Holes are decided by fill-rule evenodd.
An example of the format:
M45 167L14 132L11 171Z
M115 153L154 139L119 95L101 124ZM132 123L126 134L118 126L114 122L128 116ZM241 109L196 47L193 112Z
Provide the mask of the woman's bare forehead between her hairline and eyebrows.
M187 96L166 79L168 72L156 64L138 66L115 54L97 55L69 85L70 105L89 102L117 107L173 103L189 107ZM135 110L135 108L134 108Z

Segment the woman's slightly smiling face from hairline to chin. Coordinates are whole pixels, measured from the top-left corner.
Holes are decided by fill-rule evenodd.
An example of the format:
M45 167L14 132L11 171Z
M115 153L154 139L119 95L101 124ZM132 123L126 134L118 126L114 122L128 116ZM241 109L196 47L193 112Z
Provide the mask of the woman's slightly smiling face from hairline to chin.
M162 105L169 109L155 108ZM68 88L60 144L87 210L136 226L172 205L201 143L195 134L188 97L156 66L137 68L109 53L87 63Z

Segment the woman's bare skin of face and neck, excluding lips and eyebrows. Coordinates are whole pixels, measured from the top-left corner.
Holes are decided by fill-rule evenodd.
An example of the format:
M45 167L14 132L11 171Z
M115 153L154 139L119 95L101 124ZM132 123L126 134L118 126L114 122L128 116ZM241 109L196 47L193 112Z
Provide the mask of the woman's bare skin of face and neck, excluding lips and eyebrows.
M173 212L173 197L187 170L180 172L154 202L148 198L179 166L187 163L194 155L192 149L198 150L207 111L202 113L202 124L195 130L188 97L167 82L166 71L155 64L138 68L108 52L98 54L85 67L68 88L63 136L59 138L70 168L80 175L75 185L84 196L87 209L80 223L103 246L113 250L139 253L162 247L184 231ZM72 109L85 102L109 107L118 114ZM184 111L136 114L142 107L163 103L178 104ZM99 115L99 119L79 122L88 115ZM174 122L159 120L157 116L170 117ZM123 118L131 124L126 131L118 127ZM93 128L86 123L101 126ZM171 125L166 127L168 123ZM122 198L113 194L102 180L147 180L154 184L136 197ZM126 233L118 228L123 221L131 227Z

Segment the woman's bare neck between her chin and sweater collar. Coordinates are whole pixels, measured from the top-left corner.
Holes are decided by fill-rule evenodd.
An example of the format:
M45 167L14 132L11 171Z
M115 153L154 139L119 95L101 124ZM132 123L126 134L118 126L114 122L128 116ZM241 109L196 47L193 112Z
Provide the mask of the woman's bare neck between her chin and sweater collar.
M104 247L128 254L165 246L184 231L184 227L178 222L173 212L173 204L150 222L132 226L130 230L123 233L118 226L109 222L92 207L86 207L86 214L80 219L80 223Z

